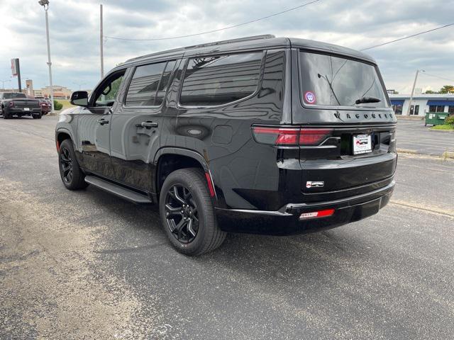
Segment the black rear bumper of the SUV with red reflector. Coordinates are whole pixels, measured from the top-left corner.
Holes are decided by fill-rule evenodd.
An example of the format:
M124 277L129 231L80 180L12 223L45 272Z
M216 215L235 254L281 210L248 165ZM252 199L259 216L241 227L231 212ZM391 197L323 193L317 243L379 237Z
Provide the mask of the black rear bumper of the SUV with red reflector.
M289 203L277 211L216 208L218 225L226 232L289 235L319 232L375 215L389 202L395 181L358 196L323 203ZM335 209L332 216L300 220L303 212Z

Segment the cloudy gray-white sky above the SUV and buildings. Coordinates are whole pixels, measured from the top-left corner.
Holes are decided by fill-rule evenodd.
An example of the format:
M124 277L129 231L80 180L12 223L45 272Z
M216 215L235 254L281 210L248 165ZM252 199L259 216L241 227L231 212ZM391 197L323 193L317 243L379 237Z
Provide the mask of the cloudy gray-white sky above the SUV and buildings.
M104 0L104 34L118 38L167 38L251 21L310 0ZM100 77L99 4L92 0L50 0L53 83L91 89ZM48 85L45 16L38 0L0 0L0 81L11 78L11 58L21 60L23 84ZM454 22L454 0L320 0L279 16L216 33L158 41L104 39L107 72L130 57L202 42L270 33L362 49ZM377 60L387 89L438 90L454 84L454 26L367 51ZM433 74L453 81L433 77ZM1 84L0 84L1 86Z

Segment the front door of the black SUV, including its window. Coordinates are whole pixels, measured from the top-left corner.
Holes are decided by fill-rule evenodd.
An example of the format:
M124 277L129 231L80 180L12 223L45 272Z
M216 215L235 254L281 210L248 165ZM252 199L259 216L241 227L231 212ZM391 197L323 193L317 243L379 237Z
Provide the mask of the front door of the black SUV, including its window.
M114 179L110 156L112 113L118 107L125 69L106 76L90 97L77 120L77 159L86 171Z

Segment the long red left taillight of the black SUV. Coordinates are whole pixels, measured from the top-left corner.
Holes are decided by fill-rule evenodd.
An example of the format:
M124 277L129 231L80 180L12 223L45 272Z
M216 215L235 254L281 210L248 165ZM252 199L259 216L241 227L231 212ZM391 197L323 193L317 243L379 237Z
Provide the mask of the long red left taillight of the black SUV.
M253 126L256 142L266 145L310 146L319 145L331 135L331 129L272 128Z

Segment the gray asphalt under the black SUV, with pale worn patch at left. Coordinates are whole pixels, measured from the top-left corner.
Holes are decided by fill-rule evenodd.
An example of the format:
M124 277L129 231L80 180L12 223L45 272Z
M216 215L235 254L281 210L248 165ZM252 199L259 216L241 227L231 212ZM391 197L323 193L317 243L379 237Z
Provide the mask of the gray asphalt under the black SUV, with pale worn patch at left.
M0 339L454 338L453 161L402 154L366 220L188 258L157 208L64 188L56 119L0 120Z

